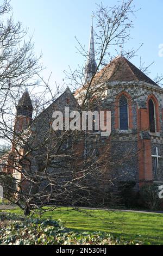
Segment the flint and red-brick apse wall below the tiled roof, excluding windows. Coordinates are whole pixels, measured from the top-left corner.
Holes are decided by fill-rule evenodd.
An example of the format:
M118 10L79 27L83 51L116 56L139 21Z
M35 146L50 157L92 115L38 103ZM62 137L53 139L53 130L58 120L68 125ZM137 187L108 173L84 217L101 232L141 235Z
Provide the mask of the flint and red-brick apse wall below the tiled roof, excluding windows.
M159 89L159 88L158 88ZM115 105L115 98L121 94L122 88L108 90L108 97L106 105L111 110L111 144L112 154L116 152L117 155L123 159L123 156L132 148L130 160L124 160L120 165L114 168L115 173L120 176L123 173L122 180L135 180L140 182L142 180L162 180L163 181L163 160L159 160L159 174L155 175L153 170L152 150L157 145L159 155L163 156L163 93L151 86L145 88L142 86L126 87L127 92L133 97L131 102L131 119L133 123L132 129L127 131L119 131L116 125L117 104ZM147 100L149 95L153 94L158 100L158 131L155 136L148 133L149 130L149 116ZM112 97L114 95L114 97ZM145 134L144 134L145 132ZM147 132L147 133L146 133ZM146 138L148 137L148 138ZM154 144L153 142L159 142ZM140 150L141 149L141 150ZM139 151L140 150L140 151ZM124 174L126 172L126 175ZM127 174L128 173L128 174Z

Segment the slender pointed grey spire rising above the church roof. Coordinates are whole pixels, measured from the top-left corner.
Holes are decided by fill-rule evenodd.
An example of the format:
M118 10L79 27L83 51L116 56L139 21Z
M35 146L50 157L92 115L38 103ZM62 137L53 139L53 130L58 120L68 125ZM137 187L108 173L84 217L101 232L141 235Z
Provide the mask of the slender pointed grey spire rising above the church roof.
M97 64L95 60L95 44L94 44L93 19L92 19L89 53L87 57L87 63L85 66L85 83L89 83L91 81L92 76L95 75L96 68L97 68Z

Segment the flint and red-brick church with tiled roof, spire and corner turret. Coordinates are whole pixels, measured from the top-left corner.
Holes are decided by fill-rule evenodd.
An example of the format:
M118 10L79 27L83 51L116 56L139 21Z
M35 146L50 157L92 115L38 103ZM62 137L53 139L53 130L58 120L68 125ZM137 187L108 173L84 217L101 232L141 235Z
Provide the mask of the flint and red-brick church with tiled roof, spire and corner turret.
M64 111L65 106L72 110L81 106L82 95L92 80L92 84L102 88L102 109L111 112L111 135L101 138L102 142L105 140L105 143L109 143L108 157L111 159L106 170L105 186L108 184L107 177L115 187L118 181L135 181L136 190L146 183L163 184L163 89L123 56L116 57L98 72L96 69L92 26L83 87L75 93L67 88L34 120L34 103L28 91L24 92L17 105L15 131L18 133L23 130L24 136L28 133L34 135L35 129L45 125L41 122L48 120L44 130L37 136L41 140L43 131L50 129L54 109ZM93 135L97 136L98 132ZM16 147L15 138L13 140L10 155L4 155L1 159L1 169L21 179L20 173L11 164ZM91 142L89 145L85 141L82 143L85 154L87 147L90 149L92 145ZM23 155L24 149L19 150L22 150ZM33 162L34 166L41 164L41 159L36 161Z

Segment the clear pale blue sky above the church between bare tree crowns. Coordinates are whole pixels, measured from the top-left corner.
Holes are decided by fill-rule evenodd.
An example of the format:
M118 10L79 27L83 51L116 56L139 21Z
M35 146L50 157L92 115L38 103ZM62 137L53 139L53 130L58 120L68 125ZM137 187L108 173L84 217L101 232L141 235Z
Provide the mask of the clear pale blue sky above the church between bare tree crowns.
M14 20L19 20L33 34L35 52L43 53L42 62L47 67L43 76L53 72L52 82L62 83L63 71L68 65L75 69L82 63L77 53L77 42L88 47L91 26L91 13L96 3L112 6L117 0L11 0ZM163 0L134 0L136 9L141 8L133 17L134 28L128 48L143 47L132 62L139 68L140 57L146 65L155 62L150 68L151 78L163 74L163 57L159 57L159 45L163 44Z

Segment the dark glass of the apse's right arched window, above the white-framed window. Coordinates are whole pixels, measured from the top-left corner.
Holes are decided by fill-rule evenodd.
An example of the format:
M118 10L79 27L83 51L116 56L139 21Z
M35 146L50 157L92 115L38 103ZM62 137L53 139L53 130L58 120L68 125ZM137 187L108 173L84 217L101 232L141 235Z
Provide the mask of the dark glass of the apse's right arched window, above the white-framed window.
M149 131L156 131L156 114L155 114L155 105L152 99L148 101L149 109Z

